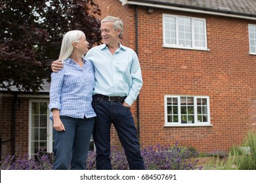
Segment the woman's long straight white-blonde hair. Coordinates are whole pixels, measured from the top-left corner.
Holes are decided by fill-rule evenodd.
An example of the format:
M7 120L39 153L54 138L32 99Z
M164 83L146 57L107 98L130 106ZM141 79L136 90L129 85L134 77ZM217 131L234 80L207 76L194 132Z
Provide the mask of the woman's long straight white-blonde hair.
M62 39L60 56L58 56L58 59L63 61L64 59L69 58L74 50L74 47L72 45L73 42L77 42L82 36L85 36L85 33L83 33L82 31L68 31Z

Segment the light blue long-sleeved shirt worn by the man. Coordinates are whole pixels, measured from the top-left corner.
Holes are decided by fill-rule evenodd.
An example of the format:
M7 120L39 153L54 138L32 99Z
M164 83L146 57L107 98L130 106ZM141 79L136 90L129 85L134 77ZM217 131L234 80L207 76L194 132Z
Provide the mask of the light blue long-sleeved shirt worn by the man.
M95 66L93 95L127 96L125 103L133 104L142 88L139 59L134 50L119 43L112 55L108 46L102 44L91 48L85 59Z

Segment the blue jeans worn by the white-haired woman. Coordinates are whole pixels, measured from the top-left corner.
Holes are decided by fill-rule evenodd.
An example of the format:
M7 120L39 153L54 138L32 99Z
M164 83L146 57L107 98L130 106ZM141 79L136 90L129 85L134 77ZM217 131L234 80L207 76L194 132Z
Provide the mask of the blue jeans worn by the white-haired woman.
M95 118L79 119L60 116L60 120L66 131L53 129L53 169L85 170Z

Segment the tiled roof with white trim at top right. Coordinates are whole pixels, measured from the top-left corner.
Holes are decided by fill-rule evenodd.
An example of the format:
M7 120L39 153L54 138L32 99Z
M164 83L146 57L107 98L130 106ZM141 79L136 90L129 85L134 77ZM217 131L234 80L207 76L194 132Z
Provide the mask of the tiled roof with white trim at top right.
M123 5L142 5L156 8L172 8L183 11L196 11L205 14L220 13L224 16L237 16L256 20L255 0L119 0Z

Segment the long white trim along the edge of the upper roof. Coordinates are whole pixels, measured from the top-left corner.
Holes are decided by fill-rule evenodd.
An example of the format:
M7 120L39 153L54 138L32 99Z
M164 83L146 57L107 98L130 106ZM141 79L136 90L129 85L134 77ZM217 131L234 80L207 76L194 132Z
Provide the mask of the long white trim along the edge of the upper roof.
M195 13L202 13L202 14L211 14L211 15L218 15L218 16L227 16L227 17L233 17L233 18L243 18L247 20L256 20L256 17L249 17L249 16L241 16L236 14L226 14L221 12L211 12L209 10L196 10L196 9L190 9L190 8L180 8L180 7L171 7L167 5L153 5L150 3L140 3L140 2L133 2L133 1L122 1L122 5L140 5L142 7L153 7L153 8L163 8L168 10L178 10L183 12L195 12Z

